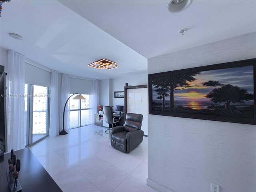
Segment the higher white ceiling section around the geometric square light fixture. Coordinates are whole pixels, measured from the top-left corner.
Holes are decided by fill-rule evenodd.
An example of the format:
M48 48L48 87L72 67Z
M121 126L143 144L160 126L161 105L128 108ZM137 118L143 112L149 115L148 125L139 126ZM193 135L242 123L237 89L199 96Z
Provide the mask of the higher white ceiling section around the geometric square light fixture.
M147 70L146 58L58 1L12 0L2 7L0 46L50 69L97 79ZM23 40L15 40L8 33L19 34ZM87 66L101 58L119 67L107 70Z

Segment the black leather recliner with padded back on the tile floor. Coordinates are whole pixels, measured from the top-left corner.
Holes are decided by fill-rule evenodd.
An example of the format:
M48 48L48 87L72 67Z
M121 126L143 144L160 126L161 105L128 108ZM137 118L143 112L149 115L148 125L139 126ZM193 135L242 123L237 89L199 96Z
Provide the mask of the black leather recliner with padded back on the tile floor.
M144 131L141 129L143 115L127 113L124 126L116 126L110 130L112 147L124 153L130 153L143 140Z

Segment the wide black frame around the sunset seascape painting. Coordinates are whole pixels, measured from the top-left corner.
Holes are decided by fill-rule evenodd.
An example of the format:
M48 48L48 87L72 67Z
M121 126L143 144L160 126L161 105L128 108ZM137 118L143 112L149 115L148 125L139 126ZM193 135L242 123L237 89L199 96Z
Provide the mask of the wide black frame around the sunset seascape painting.
M181 112L165 112L165 111L153 111L153 102L152 102L152 78L167 76L167 75L179 75L187 74L194 72L203 72L210 70L218 70L225 68L235 68L243 66L253 66L253 77L254 77L254 118L237 118L230 116L218 116L218 115L205 115L205 114L192 114L192 113L181 113ZM234 62L227 62L221 64L213 64L208 66L200 66L194 68L186 68L182 70L161 72L155 74L148 74L148 97L149 97L149 114L153 115L163 115L163 116L174 116L182 118L193 118L193 119L202 119L202 120L213 120L213 121L222 121L222 122L233 122L233 123L242 123L242 124L252 124L256 125L256 58L248 60L240 60Z

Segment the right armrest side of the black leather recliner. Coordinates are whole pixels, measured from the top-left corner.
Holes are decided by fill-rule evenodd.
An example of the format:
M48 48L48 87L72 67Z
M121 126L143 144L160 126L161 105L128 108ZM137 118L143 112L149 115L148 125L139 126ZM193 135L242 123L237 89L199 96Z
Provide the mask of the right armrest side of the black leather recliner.
M127 153L130 153L134 148L136 148L143 140L144 131L142 130L132 130L126 134L127 139Z

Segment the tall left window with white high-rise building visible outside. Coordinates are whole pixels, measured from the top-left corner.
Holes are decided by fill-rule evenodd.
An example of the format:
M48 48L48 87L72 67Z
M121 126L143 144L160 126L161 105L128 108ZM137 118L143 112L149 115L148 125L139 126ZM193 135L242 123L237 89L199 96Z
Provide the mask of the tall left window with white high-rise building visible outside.
M50 88L25 84L25 110L27 115L27 145L48 136Z

